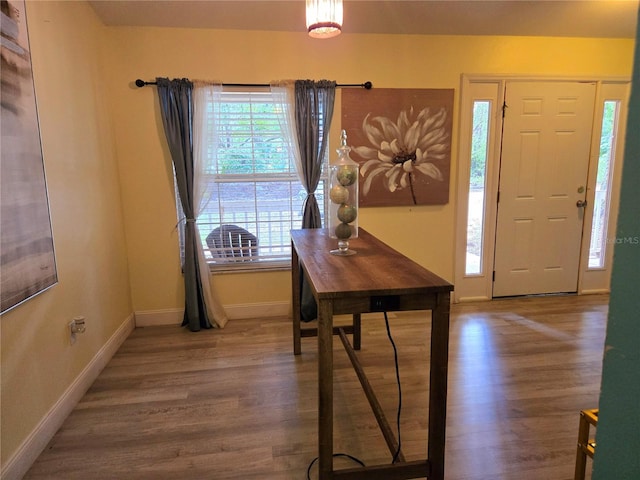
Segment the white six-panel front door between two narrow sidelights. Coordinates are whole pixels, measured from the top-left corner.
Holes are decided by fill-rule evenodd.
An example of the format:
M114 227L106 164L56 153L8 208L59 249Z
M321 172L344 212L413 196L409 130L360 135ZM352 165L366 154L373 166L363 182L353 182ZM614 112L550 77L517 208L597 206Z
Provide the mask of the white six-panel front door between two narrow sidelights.
M595 93L506 84L494 297L577 290Z

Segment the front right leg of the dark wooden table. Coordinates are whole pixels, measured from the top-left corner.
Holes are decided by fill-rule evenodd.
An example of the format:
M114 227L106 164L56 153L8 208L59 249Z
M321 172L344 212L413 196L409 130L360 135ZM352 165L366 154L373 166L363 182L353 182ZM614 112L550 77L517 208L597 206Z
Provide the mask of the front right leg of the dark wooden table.
M444 480L444 445L447 416L449 360L449 292L439 293L431 312L431 371L429 380L429 480Z

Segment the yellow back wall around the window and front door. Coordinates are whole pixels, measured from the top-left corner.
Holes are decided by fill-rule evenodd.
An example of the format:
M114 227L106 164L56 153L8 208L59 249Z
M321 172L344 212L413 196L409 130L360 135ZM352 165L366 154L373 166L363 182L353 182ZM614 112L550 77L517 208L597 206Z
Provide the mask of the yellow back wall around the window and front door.
M136 78L188 77L268 83L287 78L370 80L376 87L453 88L460 75L629 76L633 41L526 37L341 35L196 29L109 29L109 85L117 138L134 309L180 308L176 214L170 160L154 87ZM457 113L457 110L456 110ZM438 207L361 209L359 224L427 268L453 280L457 121L450 203ZM340 96L332 145L339 144ZM332 152L333 152L332 148ZM335 157L335 155L334 155ZM217 275L222 303L289 299L289 273Z

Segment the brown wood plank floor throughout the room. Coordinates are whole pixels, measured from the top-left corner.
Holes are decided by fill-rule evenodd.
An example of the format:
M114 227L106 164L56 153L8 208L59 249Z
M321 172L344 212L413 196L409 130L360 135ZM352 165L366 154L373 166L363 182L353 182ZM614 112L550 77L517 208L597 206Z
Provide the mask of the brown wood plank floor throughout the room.
M447 479L573 478L579 412L598 406L608 301L552 296L452 306ZM403 452L424 458L428 320L424 312L389 317ZM286 318L199 333L136 329L25 479L304 480L317 455L316 344L303 339L295 357L291 335ZM335 451L389 462L338 338L334 352ZM363 317L359 356L395 426L393 350L382 314ZM355 466L347 458L335 464Z

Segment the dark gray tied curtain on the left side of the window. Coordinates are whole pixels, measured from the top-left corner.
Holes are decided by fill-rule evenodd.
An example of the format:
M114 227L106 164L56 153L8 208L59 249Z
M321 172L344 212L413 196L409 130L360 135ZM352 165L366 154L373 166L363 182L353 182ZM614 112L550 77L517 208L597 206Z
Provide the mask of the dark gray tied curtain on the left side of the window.
M187 79L156 79L162 124L169 144L171 159L178 185L178 195L184 211L184 264L185 309L182 326L192 332L212 328L207 316L198 270L194 200L193 200L193 84Z

